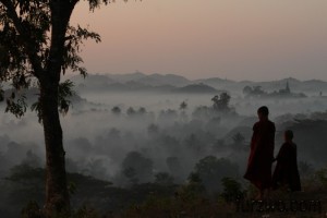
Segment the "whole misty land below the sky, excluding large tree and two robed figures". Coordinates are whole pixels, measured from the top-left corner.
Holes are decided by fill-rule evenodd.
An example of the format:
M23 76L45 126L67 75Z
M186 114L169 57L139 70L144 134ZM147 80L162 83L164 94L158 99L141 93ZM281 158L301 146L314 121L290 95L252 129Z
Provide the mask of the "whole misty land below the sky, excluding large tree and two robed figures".
M234 211L229 203L254 192L243 174L261 106L269 108L276 124L275 154L283 132L294 132L304 191L300 197L324 201L327 82L192 81L140 72L65 77L75 92L61 124L76 217L216 217ZM32 96L29 106L37 99L34 89L20 95ZM5 104L1 110L0 211L11 218L43 206L46 155L37 113L27 110L17 119L4 112ZM199 206L201 199L208 202Z

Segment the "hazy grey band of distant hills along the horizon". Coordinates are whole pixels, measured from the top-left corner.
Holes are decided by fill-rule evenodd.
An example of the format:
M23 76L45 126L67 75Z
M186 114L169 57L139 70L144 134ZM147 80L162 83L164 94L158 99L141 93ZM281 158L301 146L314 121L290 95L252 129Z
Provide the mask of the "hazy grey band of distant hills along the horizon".
M240 93L245 86L262 86L268 92L284 88L289 83L294 92L327 93L327 82L319 80L300 81L293 77L270 82L232 81L220 77L189 80L175 74L88 74L84 80L75 75L71 80L78 88L97 90L158 90L158 92L190 92L210 93L216 90L233 90ZM199 85L202 84L202 85ZM178 93L179 93L178 92Z

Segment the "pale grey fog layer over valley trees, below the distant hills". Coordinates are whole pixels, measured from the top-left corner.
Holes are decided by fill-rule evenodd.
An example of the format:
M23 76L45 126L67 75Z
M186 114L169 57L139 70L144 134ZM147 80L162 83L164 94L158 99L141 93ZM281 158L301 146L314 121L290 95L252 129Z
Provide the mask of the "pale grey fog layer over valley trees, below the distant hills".
M129 184L123 162L128 161L126 155L131 152L141 154L143 160L150 160L153 174L168 172L175 182L185 181L195 164L209 155L235 162L242 175L252 125L257 121L256 110L262 105L269 107L270 118L277 124L276 153L288 122L294 119L327 120L324 97L259 99L244 98L239 94L231 96L230 106L234 108L234 114L194 112L203 106L211 109L214 96L209 94L84 93L81 97L86 100L74 102L69 113L61 117L68 170L110 180L116 185ZM180 108L182 101L187 105L185 109ZM119 107L121 113L113 113L113 107ZM133 107L134 113L128 112L130 107ZM4 108L1 110L4 111ZM16 119L10 113L1 113L0 120L2 173L22 161L43 167L43 126L36 114L27 112ZM233 140L238 133L244 137L241 145L235 145ZM296 143L300 161L324 166L323 161L301 153L301 147L311 145ZM325 142L322 142L324 145ZM138 178L138 182L153 179L152 174L147 174L144 180Z

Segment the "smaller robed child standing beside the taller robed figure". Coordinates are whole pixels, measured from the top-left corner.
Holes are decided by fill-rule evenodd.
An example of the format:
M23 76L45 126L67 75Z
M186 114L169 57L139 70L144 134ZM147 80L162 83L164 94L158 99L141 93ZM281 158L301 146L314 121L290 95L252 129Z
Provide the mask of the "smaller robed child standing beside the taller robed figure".
M296 160L296 145L293 143L293 132L284 132L284 143L277 157L277 166L272 174L272 189L287 186L292 192L301 191L300 174Z

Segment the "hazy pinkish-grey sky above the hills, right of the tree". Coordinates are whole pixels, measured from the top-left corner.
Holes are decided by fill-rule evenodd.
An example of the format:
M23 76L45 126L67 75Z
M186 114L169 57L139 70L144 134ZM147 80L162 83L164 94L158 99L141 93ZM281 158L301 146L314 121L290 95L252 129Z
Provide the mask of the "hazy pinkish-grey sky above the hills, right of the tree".
M90 73L327 81L327 0L83 2L72 22L101 35L82 53Z

